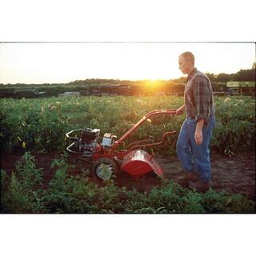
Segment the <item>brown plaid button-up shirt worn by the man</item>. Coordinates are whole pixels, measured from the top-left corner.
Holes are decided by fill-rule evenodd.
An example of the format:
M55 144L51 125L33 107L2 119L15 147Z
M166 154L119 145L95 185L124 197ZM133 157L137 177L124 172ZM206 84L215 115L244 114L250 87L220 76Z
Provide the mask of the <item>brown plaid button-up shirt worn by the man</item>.
M196 68L186 78L184 93L186 115L197 122L204 119L205 123L214 114L213 90L206 74Z

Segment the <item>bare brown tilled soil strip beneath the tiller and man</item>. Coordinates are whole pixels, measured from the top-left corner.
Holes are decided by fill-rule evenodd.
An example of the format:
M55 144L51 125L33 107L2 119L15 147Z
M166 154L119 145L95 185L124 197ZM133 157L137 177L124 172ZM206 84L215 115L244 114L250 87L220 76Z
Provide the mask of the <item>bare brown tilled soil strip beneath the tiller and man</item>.
M44 182L47 183L54 175L54 170L50 168L53 159L60 158L58 152L49 154L34 153L36 166L43 168ZM15 170L15 163L20 160L22 154L2 154L1 168L8 174ZM160 155L154 159L162 166L165 177L174 182L182 175L182 166L175 156ZM90 166L78 159L70 157L70 164L74 168L70 169L70 174L80 174L82 169L89 170ZM212 179L210 186L217 191L226 190L231 194L243 194L247 198L255 201L255 154L240 154L234 158L228 158L220 154L212 154ZM102 182L91 176L91 180L102 186ZM125 172L120 172L115 179L117 186L126 186L128 190L135 188L138 191L148 191L160 184L159 178L153 172L146 174L142 178L132 178Z

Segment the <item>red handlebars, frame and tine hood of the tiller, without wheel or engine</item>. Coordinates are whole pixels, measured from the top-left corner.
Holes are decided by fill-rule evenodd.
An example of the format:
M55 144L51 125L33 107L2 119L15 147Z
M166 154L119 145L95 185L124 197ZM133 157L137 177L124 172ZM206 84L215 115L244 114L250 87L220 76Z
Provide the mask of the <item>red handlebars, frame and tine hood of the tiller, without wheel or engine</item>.
M150 141L150 139L146 139L146 140L131 143L129 146L126 147L125 150L118 150L118 146L121 146L122 143L126 140L126 138L128 138L130 134L132 134L135 130L137 130L138 127L141 126L142 123L145 122L150 117L154 115L175 115L175 114L176 114L176 110L151 111L150 113L146 114L143 118L141 118L133 127L130 128L130 130L126 132L126 134L123 134L122 137L119 138L117 141L114 142L114 139L113 139L113 143L111 144L111 146L103 146L103 142L102 144L98 144L98 146L95 147L94 152L92 152L91 158L93 159L94 162L101 158L112 159L113 161L116 161L120 164L120 169L122 171L126 171L128 174L130 174L133 177L146 174L150 171L154 171L154 173L157 174L158 177L164 178L162 168L161 166L159 166L158 162L156 162L153 159L153 155L150 155L145 150L140 150L140 148L145 148L149 146L159 146L162 144L162 142L164 142L166 135L174 134L175 131L169 131L163 134L161 142L142 144L143 142ZM71 138L68 136L70 133L66 134L68 138ZM78 138L73 137L73 139L76 139L77 141L79 141ZM78 143L78 142L73 142L70 146L67 147L67 150L70 153L83 154L82 152L78 152L70 149L72 146L74 146L74 143Z

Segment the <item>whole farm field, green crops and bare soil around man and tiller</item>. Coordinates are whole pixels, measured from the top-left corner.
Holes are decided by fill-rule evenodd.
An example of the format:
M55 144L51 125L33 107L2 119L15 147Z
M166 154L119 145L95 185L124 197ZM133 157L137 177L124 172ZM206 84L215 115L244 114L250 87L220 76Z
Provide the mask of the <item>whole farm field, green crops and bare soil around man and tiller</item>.
M160 182L154 174L139 181L121 175L102 186L91 179L88 168L81 162L61 157L69 145L65 134L70 130L98 128L101 130L99 141L105 133L120 138L151 110L176 109L182 105L182 100L182 97L174 96L1 99L5 206L2 210L42 213L254 212L255 99L251 97L214 98L217 122L210 148L214 158L213 175L214 172L216 175L213 176L213 189L206 194L175 183L181 171L175 157L175 142L184 114L152 118L126 142L149 136L158 142L165 131L177 131L163 146L149 149L166 167L163 167L165 182ZM226 170L229 166L236 170L235 174ZM249 169L243 177L245 166ZM175 170L173 174L171 168ZM238 186L230 186L238 179L246 189L242 189L238 182ZM222 192L225 188L227 191Z

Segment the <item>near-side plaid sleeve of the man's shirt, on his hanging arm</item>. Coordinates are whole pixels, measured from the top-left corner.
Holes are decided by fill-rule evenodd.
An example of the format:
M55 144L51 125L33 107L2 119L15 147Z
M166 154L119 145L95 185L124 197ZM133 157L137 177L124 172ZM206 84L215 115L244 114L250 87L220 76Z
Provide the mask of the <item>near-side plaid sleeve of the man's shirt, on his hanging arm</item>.
M209 82L206 78L198 76L194 79L194 107L195 107L195 120L198 122L200 119L205 121L209 118L209 103L210 91Z

